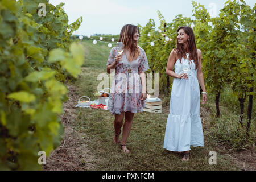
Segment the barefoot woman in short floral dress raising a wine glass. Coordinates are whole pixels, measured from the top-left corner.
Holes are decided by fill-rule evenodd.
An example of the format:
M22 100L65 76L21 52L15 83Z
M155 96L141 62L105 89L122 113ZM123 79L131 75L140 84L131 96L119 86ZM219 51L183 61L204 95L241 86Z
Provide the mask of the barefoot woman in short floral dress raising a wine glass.
M118 55L117 47L113 47L109 54L107 72L115 71L112 82L108 110L115 115L114 143L119 143L119 135L123 126L121 148L128 154L126 147L134 113L140 113L145 107L146 75L149 68L145 51L137 45L139 38L138 27L126 24L123 26L118 42L123 43L123 52ZM123 124L123 118L125 123Z

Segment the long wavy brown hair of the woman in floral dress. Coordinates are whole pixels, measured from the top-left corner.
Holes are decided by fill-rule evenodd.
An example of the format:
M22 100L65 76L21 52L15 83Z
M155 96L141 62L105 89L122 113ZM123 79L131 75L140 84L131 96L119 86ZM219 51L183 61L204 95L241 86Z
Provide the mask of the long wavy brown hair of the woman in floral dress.
M118 40L118 42L123 42L123 46L125 47L125 49L130 49L131 53L129 61L137 59L140 53L137 41L133 40L133 36L136 31L138 31L139 33L139 28L137 26L132 24L126 24L125 26L123 26Z

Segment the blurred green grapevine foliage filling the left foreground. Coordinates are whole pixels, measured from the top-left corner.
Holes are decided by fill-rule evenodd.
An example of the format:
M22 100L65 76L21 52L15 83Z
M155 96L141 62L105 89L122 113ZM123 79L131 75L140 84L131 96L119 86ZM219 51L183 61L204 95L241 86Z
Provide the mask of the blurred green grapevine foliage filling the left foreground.
M46 16L39 17L39 3ZM0 1L0 169L36 170L38 152L59 146L63 101L69 74L80 72L81 45L70 36L81 19L68 25L61 3ZM71 29L70 32L67 28Z

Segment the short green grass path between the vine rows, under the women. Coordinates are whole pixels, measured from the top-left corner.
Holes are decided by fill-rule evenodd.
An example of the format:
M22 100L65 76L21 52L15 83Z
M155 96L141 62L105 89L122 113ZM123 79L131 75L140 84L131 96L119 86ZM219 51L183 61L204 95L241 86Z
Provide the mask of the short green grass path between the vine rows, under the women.
M86 46L86 60L80 77L72 84L76 86L79 96L88 96L94 100L96 97L93 92L96 92L97 85L101 82L97 81L97 76L106 73L110 48L106 44L93 45L90 41L82 43ZM169 96L162 97L163 105L168 106L169 100ZM86 134L86 145L97 159L92 162L96 170L238 170L226 155L218 152L219 141L216 138L220 136L212 136L214 102L209 101L204 107L208 107L212 113L207 119L208 127L204 129L205 147L191 147L189 162L181 162L181 156L163 149L168 113L134 114L133 127L127 141L127 147L131 151L128 155L123 154L119 146L112 143L114 115L109 111L78 107L75 130ZM222 109L221 107L221 111ZM209 151L217 151L217 165L209 165Z

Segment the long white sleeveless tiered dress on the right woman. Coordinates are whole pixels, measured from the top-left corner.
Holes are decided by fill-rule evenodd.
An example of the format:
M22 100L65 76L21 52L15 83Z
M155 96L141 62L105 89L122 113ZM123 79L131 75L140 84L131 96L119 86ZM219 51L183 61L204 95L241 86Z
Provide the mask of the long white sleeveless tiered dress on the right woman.
M181 74L182 63L178 59L174 65L175 73ZM169 151L189 151L190 146L204 146L204 134L200 118L200 90L197 69L192 61L188 79L174 78L172 83L170 113L166 123L164 145Z

